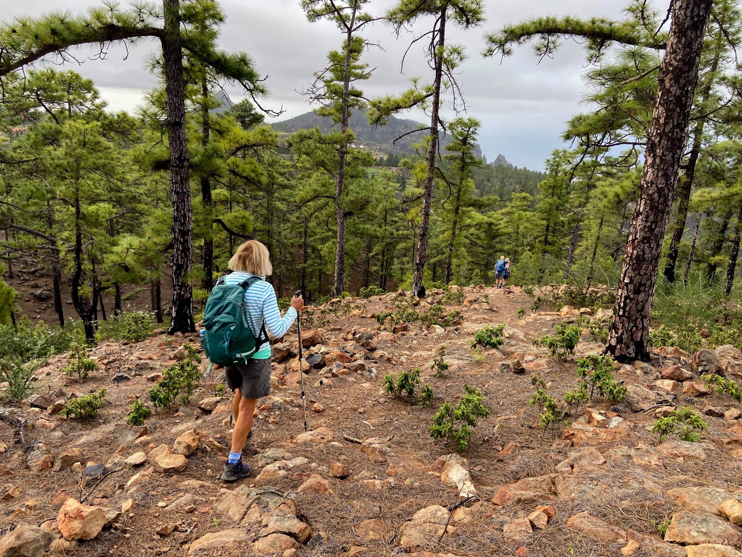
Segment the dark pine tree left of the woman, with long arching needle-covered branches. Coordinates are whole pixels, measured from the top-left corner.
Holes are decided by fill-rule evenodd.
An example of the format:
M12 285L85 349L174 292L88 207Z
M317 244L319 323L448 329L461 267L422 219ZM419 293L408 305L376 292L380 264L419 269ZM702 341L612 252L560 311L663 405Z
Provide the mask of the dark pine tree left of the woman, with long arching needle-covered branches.
M119 10L115 4L91 8L88 16L50 13L37 19L17 18L0 25L0 79L47 56L69 61L70 49L81 45L133 42L142 37L158 39L167 94L169 170L171 174L172 320L168 333L195 329L191 284L191 189L188 141L185 134L185 82L183 49L226 79L240 83L251 95L263 94L260 76L244 53L228 54L216 48L216 33L198 33L197 24L219 20L211 1L162 0L162 13L139 5ZM204 13L206 12L206 16ZM157 27L162 19L162 27ZM211 29L210 29L211 30Z

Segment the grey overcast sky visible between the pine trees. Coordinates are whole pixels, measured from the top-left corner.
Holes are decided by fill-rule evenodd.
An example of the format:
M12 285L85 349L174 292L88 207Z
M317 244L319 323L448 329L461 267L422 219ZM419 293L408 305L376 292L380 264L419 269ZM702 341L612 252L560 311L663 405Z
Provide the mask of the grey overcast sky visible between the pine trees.
M77 12L99 4L94 0L33 0L3 2L4 18L48 10ZM341 45L341 35L329 22L306 21L299 0L222 0L227 15L220 43L229 51L246 51L255 59L257 68L268 76L269 97L264 105L283 108L278 120L309 111L298 91L312 80L312 73L324 68L326 53ZM372 13L381 14L394 0L373 0L368 4ZM582 74L585 53L580 45L565 42L554 59L539 63L530 46L517 48L513 56L501 60L482 58L485 31L496 30L506 23L519 22L531 16L574 15L620 18L625 0L487 0L487 22L479 29L463 32L447 28L447 38L467 48L469 59L459 76L468 114L482 121L479 143L488 160L502 153L517 166L543 169L544 160L559 147L565 121L585 109ZM658 7L666 0L656 3ZM424 29L429 21L421 22ZM364 82L367 97L378 97L401 91L408 79L421 76L430 80L430 70L424 64L421 43L413 45L404 73L400 73L402 54L413 35L397 38L383 24L368 27L364 33L371 42L384 50L371 48L364 61L375 68L372 78ZM142 91L156 85L153 76L144 69L145 59L157 48L154 42L130 48L111 48L107 59L85 60L76 71L90 77L99 87L102 97L113 110L132 111L141 102ZM240 98L236 88L228 89L233 100ZM450 108L448 109L450 111ZM424 115L411 112L401 117L424 120Z

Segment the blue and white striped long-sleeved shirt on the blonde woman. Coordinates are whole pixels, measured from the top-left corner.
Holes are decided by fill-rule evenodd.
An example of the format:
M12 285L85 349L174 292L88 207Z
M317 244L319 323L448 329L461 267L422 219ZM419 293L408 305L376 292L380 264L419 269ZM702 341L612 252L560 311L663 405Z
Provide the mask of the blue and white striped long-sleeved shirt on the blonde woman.
M255 275L234 271L224 277L224 284L240 284L251 276ZM245 291L245 309L248 325L256 339L260 336L263 323L273 336L283 336L296 319L296 310L293 307L289 307L283 317L280 316L275 290L272 284L266 282L264 276L261 276L259 281ZM269 359L271 357L270 344L264 342L260 350L252 357Z

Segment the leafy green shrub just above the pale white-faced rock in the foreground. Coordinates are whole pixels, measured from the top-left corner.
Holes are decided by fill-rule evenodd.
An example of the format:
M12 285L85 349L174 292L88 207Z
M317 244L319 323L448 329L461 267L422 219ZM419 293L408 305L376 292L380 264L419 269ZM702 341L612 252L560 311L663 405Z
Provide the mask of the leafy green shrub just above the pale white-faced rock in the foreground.
M472 385L464 385L464 394L459 403L443 403L433 416L433 425L430 426L430 435L433 439L444 439L446 443L453 441L459 452L464 452L469 446L470 437L476 427L477 420L490 415L482 403L484 394Z

